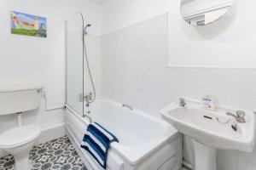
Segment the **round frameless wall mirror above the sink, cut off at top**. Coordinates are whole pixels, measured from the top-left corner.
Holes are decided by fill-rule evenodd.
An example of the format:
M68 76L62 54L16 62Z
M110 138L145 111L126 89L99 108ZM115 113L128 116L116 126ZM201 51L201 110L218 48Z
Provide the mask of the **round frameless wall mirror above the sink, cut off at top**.
M181 0L183 20L192 26L206 26L226 14L234 0Z

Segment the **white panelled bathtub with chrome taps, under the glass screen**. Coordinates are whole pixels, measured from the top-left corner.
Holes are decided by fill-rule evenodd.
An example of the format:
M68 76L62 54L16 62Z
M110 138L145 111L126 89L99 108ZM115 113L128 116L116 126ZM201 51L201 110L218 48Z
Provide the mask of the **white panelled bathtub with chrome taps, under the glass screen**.
M81 110L78 107L75 109ZM84 110L87 110L85 106ZM181 134L167 122L148 116L142 111L131 111L109 99L96 100L90 105L89 110L94 122L102 124L119 139L119 143L111 144L108 152L108 169L181 169ZM79 116L67 105L67 135L89 169L102 169L85 150L79 147L88 124L87 118Z

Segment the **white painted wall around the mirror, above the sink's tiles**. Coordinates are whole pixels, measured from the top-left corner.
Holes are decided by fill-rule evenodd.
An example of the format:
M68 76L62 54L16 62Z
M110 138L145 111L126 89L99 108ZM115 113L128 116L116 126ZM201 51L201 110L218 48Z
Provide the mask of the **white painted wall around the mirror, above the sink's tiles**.
M177 7L178 2L172 2ZM191 67L254 68L254 42L256 25L245 20L255 15L253 0L235 1L222 20L208 26L189 26L177 20L179 8L170 10L169 65ZM183 52L179 47L186 48Z

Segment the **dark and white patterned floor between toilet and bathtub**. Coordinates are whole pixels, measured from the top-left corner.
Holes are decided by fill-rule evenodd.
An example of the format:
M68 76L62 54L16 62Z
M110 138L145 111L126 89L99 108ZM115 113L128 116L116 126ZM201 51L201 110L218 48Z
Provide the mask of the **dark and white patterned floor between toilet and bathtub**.
M65 136L45 144L38 144L30 153L32 170L86 170L84 163ZM14 170L14 157L0 158L1 170Z

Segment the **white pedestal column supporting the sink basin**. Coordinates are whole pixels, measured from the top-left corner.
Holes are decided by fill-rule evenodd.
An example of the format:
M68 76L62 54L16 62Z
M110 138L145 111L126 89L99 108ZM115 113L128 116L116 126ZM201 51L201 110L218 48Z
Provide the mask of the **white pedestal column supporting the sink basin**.
M195 170L217 170L217 148L198 143L193 139L195 148Z

